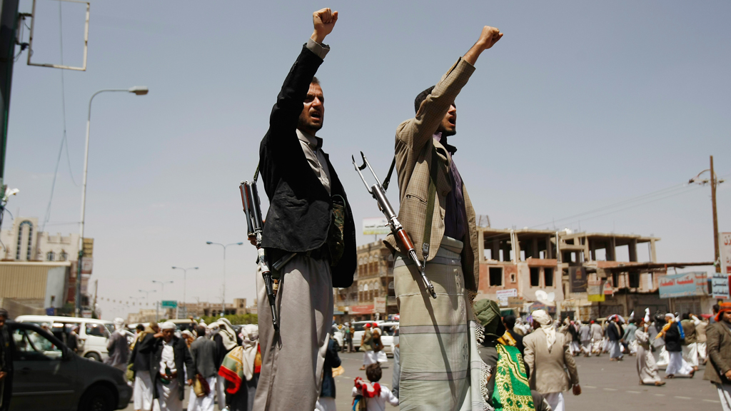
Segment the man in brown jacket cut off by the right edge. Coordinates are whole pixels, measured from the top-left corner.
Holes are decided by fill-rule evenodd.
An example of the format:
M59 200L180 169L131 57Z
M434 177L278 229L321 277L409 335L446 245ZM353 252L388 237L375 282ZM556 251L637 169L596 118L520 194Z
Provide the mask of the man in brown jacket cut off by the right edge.
M716 385L723 410L731 409L731 303L719 304L716 323L705 329L708 366L703 380Z

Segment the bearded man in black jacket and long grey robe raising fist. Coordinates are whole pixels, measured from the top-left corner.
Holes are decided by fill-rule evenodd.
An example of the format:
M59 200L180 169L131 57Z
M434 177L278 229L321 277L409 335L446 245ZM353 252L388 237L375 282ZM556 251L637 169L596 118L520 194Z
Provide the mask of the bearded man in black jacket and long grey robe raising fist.
M260 146L270 202L262 246L270 268L281 257L297 254L273 273L281 278L279 333L273 331L264 287L258 285L262 372L255 410L314 410L333 320L333 287L349 287L355 273L352 213L322 151L322 138L316 137L325 98L314 75L330 50L322 41L337 20L338 12L330 9L313 13L314 31L284 80Z

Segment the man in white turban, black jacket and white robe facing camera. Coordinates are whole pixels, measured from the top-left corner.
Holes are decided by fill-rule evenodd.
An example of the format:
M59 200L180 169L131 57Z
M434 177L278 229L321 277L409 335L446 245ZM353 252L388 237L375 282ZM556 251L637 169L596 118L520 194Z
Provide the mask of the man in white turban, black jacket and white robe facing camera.
M150 363L150 373L155 378L154 396L161 411L183 411L185 382L187 380L188 385L193 385L195 363L190 356L188 344L184 339L175 336L175 323L162 323L160 333L162 338L156 339Z

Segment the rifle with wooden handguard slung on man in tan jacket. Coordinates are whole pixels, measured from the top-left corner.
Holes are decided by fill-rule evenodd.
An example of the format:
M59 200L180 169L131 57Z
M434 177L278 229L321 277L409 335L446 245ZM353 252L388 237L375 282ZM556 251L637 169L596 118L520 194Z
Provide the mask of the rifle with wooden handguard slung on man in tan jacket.
M419 273L421 274L421 279L424 282L424 287L426 287L432 298L436 298L434 286L431 284L431 281L426 278L425 266L428 252L425 253L424 263L422 263L419 260L419 257L417 257L416 249L414 249L414 243L412 243L411 238L409 238L409 234L406 233L406 230L404 230L404 226L402 226L401 222L399 222L398 218L396 218L396 213L395 211L393 211L391 203L389 203L388 199L386 198L386 190L381 185L381 181L378 179L378 176L376 176L376 172L373 170L373 167L371 167L371 165L368 163L368 159L366 159L366 155L363 154L363 151L360 151L360 157L363 157L363 165L361 165L360 167L355 164L355 157L350 157L353 160L353 167L355 167L355 170L360 175L360 179L363 180L363 184L366 184L366 189L368 189L368 193L370 193L378 202L378 208L382 211L383 215L386 216L386 219L388 220L388 225L391 227L391 233L393 233L393 235L401 241L401 244L403 244L404 248L406 249L406 254L409 255L409 258L414 262L414 265L416 265L417 269L419 270ZM376 184L372 186L368 186L366 178L363 177L363 173L360 172L360 170L365 170L366 166L368 167L368 169L371 170L374 178L376 178ZM389 170L389 176L391 174L391 171L393 171L393 164L391 165L391 169Z

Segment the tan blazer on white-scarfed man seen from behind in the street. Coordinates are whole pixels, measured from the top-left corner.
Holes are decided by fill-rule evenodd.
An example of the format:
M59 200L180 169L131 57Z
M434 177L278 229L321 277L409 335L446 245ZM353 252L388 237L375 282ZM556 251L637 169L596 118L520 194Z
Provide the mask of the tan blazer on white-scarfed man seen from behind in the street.
M538 329L523 337L526 347L523 361L529 367L531 389L539 393L561 393L568 391L572 384L579 383L579 373L573 355L569 351L571 340L563 333L556 333L556 342L548 352L546 334ZM564 367L569 374L564 371Z

